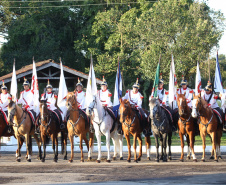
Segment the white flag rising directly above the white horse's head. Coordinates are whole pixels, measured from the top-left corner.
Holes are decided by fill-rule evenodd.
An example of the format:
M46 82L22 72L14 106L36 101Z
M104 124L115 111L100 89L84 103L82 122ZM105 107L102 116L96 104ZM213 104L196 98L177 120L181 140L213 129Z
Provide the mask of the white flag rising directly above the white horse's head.
M97 84L96 77L93 69L93 58L91 55L90 69L89 69L89 77L86 88L86 107L90 105L93 101L93 96L97 95Z

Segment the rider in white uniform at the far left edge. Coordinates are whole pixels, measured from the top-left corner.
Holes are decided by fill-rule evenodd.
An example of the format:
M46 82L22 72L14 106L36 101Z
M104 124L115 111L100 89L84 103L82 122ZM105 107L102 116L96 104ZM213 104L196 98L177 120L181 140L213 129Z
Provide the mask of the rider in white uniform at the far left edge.
M10 96L9 96L9 93L7 91L7 87L5 86L4 81L2 81L1 89L2 89L2 93L0 94L0 111L3 114L3 118L4 118L5 122L8 124L8 121L7 121L8 109L7 109L7 107L8 107L8 104L9 104L8 98Z

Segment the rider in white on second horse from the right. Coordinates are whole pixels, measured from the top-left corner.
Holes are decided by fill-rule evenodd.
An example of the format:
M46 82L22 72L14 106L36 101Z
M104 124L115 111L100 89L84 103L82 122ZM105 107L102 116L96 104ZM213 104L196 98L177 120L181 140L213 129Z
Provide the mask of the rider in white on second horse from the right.
M184 76L182 75L182 81L181 81L181 87L179 89L177 89L177 93L178 94L184 94L185 93L185 98L187 101L187 105L188 107L190 107L190 109L192 108L192 95L193 95L193 90L188 88L188 82L186 79L184 79Z

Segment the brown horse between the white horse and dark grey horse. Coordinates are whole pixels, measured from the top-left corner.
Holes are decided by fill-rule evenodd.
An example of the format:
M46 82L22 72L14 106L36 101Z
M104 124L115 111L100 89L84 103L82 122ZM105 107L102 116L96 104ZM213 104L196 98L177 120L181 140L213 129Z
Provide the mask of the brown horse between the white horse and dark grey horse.
M130 144L130 134L133 136L133 147L134 147L134 162L138 162L141 160L142 157L142 138L141 138L141 132L143 131L143 128L141 126L139 117L136 110L133 110L130 102L127 99L120 99L120 122L122 123L122 130L124 133L124 136L127 141L128 146L128 158L127 162L131 162L131 144ZM140 151L139 155L137 157L137 140L139 143ZM147 148L147 158L150 160L150 136L145 136L145 143Z

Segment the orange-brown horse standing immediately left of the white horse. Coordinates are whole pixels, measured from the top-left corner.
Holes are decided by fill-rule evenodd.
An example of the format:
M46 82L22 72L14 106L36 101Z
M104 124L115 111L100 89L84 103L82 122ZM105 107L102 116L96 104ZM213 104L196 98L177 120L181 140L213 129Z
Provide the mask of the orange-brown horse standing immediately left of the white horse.
M88 160L91 160L91 150L93 146L93 137L94 134L90 133L90 126L86 124L85 119L83 116L79 113L78 109L78 103L74 92L69 92L67 94L67 102L66 106L69 111L69 119L67 121L67 129L68 129L68 138L71 142L71 158L69 162L73 162L74 159L74 136L77 135L80 138L80 150L81 150L81 162L84 162L84 156L83 156L83 146L82 141L84 140L86 143L86 146L89 150L88 153ZM86 134L89 133L89 143L86 138Z

